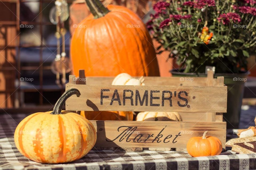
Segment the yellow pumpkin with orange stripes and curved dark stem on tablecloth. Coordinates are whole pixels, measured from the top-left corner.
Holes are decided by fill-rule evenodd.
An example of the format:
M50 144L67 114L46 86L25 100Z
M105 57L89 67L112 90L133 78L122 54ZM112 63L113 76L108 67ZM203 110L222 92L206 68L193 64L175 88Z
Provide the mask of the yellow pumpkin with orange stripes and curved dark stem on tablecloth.
M96 142L96 130L86 118L61 111L65 100L80 95L67 90L52 112L38 112L23 119L14 133L18 150L27 158L41 163L72 162L85 156Z

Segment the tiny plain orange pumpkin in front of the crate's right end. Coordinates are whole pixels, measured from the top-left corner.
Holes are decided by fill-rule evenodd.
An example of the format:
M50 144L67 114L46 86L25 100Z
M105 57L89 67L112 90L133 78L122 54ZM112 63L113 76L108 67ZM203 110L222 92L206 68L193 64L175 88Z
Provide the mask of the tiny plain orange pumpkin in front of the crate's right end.
M187 152L193 157L219 155L222 151L221 141L214 136L192 137L187 142Z

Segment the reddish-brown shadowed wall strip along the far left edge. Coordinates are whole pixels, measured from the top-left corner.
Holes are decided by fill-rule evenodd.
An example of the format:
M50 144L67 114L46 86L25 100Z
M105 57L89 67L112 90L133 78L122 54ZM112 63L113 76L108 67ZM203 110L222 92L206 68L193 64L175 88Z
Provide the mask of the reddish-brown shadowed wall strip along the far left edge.
M0 5L0 107L13 107L15 91L15 45L16 25L6 22L16 21L16 3L2 2ZM1 24L3 23L3 24Z

